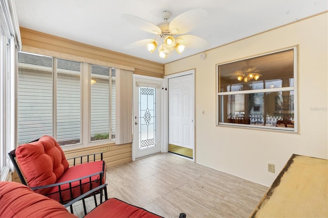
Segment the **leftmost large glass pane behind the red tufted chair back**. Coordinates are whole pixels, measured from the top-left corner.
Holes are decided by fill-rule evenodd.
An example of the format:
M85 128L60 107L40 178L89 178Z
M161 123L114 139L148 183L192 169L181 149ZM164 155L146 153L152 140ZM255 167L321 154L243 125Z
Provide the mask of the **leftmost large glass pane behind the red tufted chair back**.
M18 53L18 143L52 136L52 57Z

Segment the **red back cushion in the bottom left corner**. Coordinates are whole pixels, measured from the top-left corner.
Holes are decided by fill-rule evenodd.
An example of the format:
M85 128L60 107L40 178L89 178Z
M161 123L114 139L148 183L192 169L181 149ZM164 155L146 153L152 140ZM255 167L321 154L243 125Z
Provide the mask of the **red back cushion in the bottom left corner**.
M60 203L16 182L0 182L0 217L77 217Z

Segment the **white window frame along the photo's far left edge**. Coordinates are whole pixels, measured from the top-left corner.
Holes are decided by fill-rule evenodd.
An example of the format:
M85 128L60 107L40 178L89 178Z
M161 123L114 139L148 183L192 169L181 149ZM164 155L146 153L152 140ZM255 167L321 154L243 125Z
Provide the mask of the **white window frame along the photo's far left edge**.
M21 49L15 3L0 3L0 181L11 179L8 152L16 145L15 84L17 51Z

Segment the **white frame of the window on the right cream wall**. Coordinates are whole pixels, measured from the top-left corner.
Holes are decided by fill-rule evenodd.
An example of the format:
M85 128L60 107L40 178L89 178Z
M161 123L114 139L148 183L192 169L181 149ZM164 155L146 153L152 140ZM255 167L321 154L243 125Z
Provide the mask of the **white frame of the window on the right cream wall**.
M219 66L228 63L234 63L238 61L248 60L252 58L257 58L265 55L272 55L279 52L284 52L288 50L293 50L293 67L294 67L294 85L291 87L283 87L283 88L273 88L273 89L259 89L259 90L243 90L243 91L230 91L230 92L220 92L220 72ZM267 53L262 53L254 56L243 57L233 61L227 61L216 64L216 126L232 126L232 127L242 127L242 128L251 128L251 129L266 129L266 130L277 130L280 132L288 132L288 133L298 133L298 91L297 91L297 82L298 82L298 46L292 46L280 50L275 50ZM293 91L294 92L294 129L285 128L285 127L277 127L277 126L265 126L265 125L249 125L249 124L239 124L239 123L228 123L228 122L220 122L220 109L223 109L225 105L221 104L220 98L225 95L238 95L238 94L255 94L255 93L272 93L272 92L284 92L284 91ZM220 108L221 107L221 108Z

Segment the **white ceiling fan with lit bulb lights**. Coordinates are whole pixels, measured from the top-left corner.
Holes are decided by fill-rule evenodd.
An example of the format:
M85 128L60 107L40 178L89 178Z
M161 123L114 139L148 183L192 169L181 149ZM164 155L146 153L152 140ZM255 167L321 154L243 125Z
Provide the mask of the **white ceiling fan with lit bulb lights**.
M154 38L135 41L125 49L133 49L141 46L146 46L147 50L153 53L157 46L159 57L166 58L171 51L176 51L181 54L186 48L200 49L210 46L210 42L195 35L181 35L195 29L203 19L207 17L207 11L202 8L193 9L168 21L171 17L170 11L162 11L161 16L163 22L158 25L151 23L148 20L131 14L122 14L122 17L128 20L131 24L138 26L141 30L153 33Z

